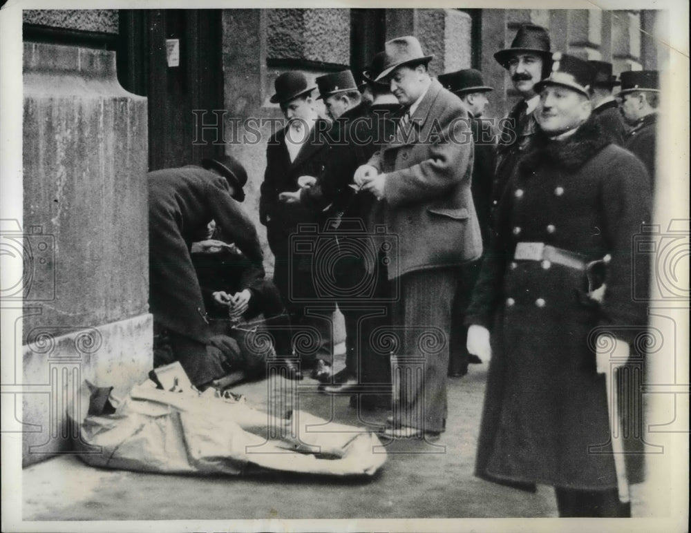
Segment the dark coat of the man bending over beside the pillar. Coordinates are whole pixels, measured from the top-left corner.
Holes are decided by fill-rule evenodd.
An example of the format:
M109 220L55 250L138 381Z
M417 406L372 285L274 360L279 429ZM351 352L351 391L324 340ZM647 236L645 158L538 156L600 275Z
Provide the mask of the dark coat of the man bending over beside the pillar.
M150 172L149 306L162 326L208 342L205 305L190 247L211 220L256 269L263 254L254 224L230 195L225 177L199 166Z

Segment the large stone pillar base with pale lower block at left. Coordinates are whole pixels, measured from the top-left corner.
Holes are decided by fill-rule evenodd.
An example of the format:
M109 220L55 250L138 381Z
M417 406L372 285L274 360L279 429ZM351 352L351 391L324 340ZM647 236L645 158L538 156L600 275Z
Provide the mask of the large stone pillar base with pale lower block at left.
M152 322L146 98L117 83L114 52L25 43L23 65L23 225L3 238L25 265L15 385L30 464L69 452L84 380L122 395L145 378Z

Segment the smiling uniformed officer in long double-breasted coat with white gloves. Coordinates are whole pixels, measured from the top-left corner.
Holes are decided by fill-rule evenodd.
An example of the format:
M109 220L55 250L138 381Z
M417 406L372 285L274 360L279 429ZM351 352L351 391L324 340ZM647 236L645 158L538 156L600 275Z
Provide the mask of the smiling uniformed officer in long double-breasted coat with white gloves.
M650 221L650 186L643 164L591 115L591 66L552 59L536 85L532 150L502 196L466 318L468 351L493 352L475 474L527 490L552 485L560 516L625 516L599 361L609 355L601 336L616 339L621 361L645 334L645 304L631 287L645 287L647 260L632 266L632 243ZM592 275L598 264L605 285ZM624 416L642 423L641 409ZM626 456L632 483L640 457Z

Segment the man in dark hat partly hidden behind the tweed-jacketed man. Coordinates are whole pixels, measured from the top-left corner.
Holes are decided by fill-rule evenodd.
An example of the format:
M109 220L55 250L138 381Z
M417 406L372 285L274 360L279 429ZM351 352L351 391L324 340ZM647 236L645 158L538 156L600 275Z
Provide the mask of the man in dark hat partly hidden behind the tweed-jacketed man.
M455 72L447 72L437 77L444 88L457 95L468 108L475 157L473 158L473 177L471 191L477 211L477 221L480 222L482 246L489 245L491 229L492 185L495 169L495 139L489 122L480 118L484 114L488 100L486 94L493 90L482 79L482 72L474 68L466 68ZM460 271L460 286L456 291L453 302L453 320L455 324L451 330L451 340L448 358L448 375L451 377L465 376L468 373L468 363L480 364L482 360L468 353L466 350L466 329L463 323L465 309L468 306L477 274L480 271L480 260L463 265Z

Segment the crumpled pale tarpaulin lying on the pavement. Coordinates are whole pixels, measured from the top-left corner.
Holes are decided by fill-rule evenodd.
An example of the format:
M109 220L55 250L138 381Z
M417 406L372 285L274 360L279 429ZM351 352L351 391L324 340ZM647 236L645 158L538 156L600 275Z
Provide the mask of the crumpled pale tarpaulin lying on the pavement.
M91 405L75 443L80 458L114 469L232 475L258 467L371 476L386 461L381 442L365 429L305 411L272 416L232 394L219 396L213 389L199 394L187 387L184 375L182 387L177 380L174 391L156 388L151 380L136 385L107 415L95 414L102 409L94 405L103 400L84 389Z

